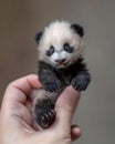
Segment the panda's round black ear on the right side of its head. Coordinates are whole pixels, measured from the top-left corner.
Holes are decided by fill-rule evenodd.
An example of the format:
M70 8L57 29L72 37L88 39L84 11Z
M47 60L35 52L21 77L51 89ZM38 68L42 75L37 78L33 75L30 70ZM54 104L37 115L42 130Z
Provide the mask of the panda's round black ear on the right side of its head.
M83 37L84 35L84 29L83 27L81 27L80 24L72 24L71 28L80 35Z

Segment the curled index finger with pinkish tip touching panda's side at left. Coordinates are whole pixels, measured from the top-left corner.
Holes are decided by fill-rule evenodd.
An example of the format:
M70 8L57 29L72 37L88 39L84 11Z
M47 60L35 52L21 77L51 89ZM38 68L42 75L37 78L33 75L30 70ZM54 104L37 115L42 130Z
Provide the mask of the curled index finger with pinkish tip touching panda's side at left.
M27 95L31 92L31 90L40 86L41 83L38 81L38 76L35 74L18 79L8 85L2 103L3 105L8 105L8 103L11 104L14 101L25 103Z

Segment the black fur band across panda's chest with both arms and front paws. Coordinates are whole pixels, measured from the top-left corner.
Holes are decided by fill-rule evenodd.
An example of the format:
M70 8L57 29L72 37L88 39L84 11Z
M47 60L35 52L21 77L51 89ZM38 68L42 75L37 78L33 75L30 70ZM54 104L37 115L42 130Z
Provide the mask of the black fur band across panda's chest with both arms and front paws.
M44 89L50 92L55 92L66 85L84 91L90 83L90 73L82 58L65 69L55 69L50 64L39 62L39 79Z

